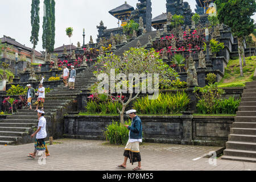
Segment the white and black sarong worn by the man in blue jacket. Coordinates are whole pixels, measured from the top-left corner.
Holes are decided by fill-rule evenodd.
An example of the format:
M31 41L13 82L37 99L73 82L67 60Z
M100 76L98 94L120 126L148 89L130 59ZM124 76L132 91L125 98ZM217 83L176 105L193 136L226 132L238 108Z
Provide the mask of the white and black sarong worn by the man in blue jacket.
M141 153L139 152L139 142L127 142L123 156L130 159L131 165L135 162L141 162Z

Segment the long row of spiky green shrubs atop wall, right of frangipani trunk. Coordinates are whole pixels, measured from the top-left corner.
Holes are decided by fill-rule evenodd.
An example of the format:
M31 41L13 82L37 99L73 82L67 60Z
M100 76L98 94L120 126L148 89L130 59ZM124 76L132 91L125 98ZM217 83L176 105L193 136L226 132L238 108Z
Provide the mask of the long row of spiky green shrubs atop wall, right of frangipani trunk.
M133 108L139 114L177 114L187 109L189 101L185 92L160 93L156 100L149 100L148 96L138 98L134 102Z

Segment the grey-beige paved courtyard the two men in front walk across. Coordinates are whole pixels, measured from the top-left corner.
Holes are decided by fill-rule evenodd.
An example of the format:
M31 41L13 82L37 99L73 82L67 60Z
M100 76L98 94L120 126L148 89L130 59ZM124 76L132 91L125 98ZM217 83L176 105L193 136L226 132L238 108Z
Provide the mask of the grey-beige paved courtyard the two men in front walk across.
M48 147L51 156L43 164L38 159L27 157L34 150L33 144L0 146L0 170L131 170L117 168L123 162L122 146L112 146L106 141L59 139ZM169 170L256 170L256 163L216 160L209 164L202 156L220 147L187 146L177 144L144 143L141 145L142 169L152 171ZM212 164L213 160L211 160ZM39 164L40 163L40 164Z

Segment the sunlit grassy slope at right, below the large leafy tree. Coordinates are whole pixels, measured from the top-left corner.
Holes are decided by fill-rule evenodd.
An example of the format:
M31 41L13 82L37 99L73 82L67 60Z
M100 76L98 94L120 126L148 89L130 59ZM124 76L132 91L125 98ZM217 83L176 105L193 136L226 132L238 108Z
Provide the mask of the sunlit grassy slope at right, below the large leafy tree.
M240 76L239 59L229 60L225 68L225 75L218 83L218 87L242 87L245 82L253 81L256 67L256 56L245 58L246 66L243 67L243 77Z

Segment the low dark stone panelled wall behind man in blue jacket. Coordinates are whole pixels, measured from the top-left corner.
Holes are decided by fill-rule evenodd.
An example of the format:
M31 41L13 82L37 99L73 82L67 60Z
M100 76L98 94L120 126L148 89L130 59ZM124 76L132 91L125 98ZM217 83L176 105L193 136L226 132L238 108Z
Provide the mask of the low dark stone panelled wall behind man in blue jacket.
M234 117L139 116L145 142L225 146ZM127 119L127 118L125 118ZM67 115L64 137L105 140L103 132L119 116Z

